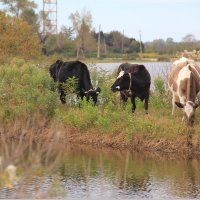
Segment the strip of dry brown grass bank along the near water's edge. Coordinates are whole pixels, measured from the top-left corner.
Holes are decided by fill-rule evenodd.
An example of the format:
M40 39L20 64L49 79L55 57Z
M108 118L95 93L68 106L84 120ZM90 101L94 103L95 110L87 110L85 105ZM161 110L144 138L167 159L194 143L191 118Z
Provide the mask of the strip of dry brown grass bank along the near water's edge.
M12 125L11 125L12 124ZM151 138L135 134L131 139L123 132L118 134L99 133L95 129L80 130L63 125L61 122L41 120L34 117L26 120L15 120L12 123L1 122L0 139L3 141L23 140L28 143L47 145L56 142L63 144L85 144L94 147L129 149L131 151L147 151L156 153L172 153L189 156L200 156L200 139L195 133L178 135L174 138Z

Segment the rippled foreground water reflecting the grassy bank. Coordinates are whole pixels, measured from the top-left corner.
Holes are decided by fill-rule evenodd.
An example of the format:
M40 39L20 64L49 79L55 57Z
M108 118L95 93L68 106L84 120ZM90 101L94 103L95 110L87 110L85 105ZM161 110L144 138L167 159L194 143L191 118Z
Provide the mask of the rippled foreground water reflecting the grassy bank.
M17 166L18 180L0 187L0 198L200 198L197 159L74 145L55 146L47 160L34 157L25 170Z

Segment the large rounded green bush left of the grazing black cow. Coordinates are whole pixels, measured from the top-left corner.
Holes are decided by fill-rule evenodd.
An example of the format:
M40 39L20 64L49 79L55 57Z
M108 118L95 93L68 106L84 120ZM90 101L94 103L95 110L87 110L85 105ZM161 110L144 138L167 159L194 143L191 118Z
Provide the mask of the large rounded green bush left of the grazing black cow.
M14 59L0 66L0 117L28 115L39 111L52 114L56 95L52 80L44 69Z

